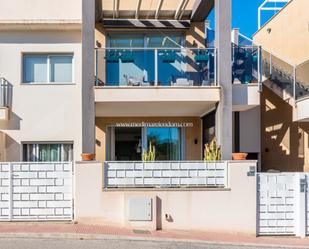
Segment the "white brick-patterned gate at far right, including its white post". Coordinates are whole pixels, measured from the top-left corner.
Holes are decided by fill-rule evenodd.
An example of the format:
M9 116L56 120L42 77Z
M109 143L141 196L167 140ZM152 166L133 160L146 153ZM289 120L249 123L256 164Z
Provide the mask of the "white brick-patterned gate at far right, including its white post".
M309 174L257 175L258 235L309 234Z

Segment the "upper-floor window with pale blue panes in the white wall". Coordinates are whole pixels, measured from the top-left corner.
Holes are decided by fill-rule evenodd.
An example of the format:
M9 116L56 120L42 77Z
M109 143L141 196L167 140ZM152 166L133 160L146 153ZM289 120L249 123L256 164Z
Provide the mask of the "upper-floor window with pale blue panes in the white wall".
M26 54L23 83L72 83L73 55Z

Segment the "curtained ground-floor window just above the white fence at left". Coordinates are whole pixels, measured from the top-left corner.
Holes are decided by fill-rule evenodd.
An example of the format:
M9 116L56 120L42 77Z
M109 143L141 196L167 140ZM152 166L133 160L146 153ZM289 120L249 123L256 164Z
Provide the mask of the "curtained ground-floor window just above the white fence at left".
M68 162L73 160L73 144L29 143L23 144L24 162Z

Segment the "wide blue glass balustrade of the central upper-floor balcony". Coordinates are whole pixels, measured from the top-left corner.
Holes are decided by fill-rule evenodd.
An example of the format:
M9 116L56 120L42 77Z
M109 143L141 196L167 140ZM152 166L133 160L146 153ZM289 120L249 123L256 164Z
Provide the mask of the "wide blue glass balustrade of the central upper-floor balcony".
M106 48L96 50L100 86L213 86L215 49Z

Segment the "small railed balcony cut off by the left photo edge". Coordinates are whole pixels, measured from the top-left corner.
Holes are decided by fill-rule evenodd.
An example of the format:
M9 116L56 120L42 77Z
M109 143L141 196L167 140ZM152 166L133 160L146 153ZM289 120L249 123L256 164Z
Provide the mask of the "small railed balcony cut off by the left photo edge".
M0 121L9 119L11 106L12 85L4 78L0 78Z

